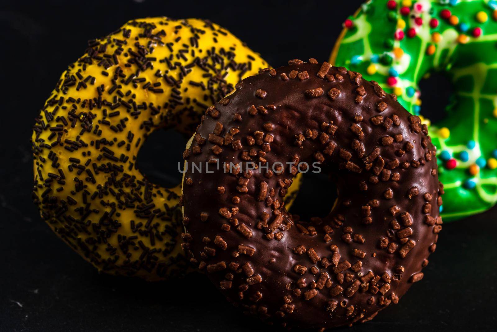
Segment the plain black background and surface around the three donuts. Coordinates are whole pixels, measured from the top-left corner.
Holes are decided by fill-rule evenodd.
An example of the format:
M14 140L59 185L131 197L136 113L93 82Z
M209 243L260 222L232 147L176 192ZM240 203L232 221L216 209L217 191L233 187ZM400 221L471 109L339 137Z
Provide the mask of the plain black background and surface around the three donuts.
M279 331L239 314L202 275L163 283L99 275L40 220L32 204L31 126L62 71L83 54L86 41L128 19L208 18L277 67L293 58L327 60L341 22L361 2L0 4L0 331ZM441 86L436 80L425 86ZM424 111L440 109L434 102L440 103L439 96L423 97ZM166 170L175 169L184 146L178 137L177 146L163 146L167 135L172 134L152 135L140 153L142 170L164 184L171 181ZM308 179L302 190L322 187L318 184ZM302 196L297 210L309 209L310 198ZM445 224L422 282L398 305L349 331L495 331L496 217L493 209Z

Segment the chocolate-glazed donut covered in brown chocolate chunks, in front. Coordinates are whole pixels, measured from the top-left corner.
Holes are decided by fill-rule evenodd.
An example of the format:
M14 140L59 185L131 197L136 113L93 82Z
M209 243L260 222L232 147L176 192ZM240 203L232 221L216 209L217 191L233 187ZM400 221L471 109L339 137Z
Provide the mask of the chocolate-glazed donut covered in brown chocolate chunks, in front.
M426 126L343 67L291 60L244 79L183 156L183 248L270 324L368 321L422 279L435 250L443 186ZM283 197L296 174L320 169L338 197L325 218L299 221Z

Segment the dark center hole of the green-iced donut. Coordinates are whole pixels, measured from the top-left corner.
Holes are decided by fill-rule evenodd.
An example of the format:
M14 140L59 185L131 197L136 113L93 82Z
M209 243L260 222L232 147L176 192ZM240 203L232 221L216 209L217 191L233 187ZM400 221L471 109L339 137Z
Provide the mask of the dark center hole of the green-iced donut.
M419 82L419 90L423 102L421 114L430 119L431 123L442 120L453 94L452 83L447 76L438 72L430 73Z

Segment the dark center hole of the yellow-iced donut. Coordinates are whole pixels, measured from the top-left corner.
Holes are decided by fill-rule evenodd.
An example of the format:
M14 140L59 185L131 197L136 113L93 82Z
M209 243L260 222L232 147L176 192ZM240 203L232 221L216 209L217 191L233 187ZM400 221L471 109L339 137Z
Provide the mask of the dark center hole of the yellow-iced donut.
M159 129L152 132L137 157L137 166L151 182L166 188L181 183L182 165L187 138L174 129Z

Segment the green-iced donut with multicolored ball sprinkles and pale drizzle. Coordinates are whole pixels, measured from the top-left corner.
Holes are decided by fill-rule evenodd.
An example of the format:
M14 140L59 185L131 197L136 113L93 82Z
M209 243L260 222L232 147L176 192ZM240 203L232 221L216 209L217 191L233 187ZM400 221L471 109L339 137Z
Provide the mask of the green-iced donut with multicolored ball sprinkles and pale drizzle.
M497 1L371 0L344 23L331 64L361 72L418 115L418 83L453 84L445 118L429 126L444 184L444 221L497 201ZM429 120L425 119L429 124Z

